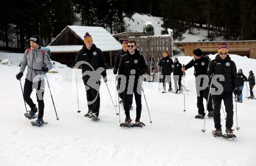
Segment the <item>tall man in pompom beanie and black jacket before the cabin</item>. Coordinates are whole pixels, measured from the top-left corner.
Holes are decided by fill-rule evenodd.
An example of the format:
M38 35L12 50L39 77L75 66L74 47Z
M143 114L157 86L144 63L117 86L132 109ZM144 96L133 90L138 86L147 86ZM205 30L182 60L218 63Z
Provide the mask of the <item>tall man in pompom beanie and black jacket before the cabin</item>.
M88 32L84 36L83 48L77 53L75 64L76 68L81 65L83 82L86 86L88 113L84 116L97 119L100 105L100 79L102 75L104 82L106 82L106 67L102 51L94 45L93 38Z

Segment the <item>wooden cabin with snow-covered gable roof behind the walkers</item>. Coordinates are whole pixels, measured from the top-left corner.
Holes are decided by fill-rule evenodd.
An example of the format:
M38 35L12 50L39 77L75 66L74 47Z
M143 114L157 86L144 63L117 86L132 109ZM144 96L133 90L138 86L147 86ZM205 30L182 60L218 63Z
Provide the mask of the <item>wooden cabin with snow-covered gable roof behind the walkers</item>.
M106 67L111 68L116 54L122 49L122 45L102 27L68 25L47 46L51 50L51 59L72 67L77 52L84 45L86 32L89 32L93 37L93 43L103 52Z

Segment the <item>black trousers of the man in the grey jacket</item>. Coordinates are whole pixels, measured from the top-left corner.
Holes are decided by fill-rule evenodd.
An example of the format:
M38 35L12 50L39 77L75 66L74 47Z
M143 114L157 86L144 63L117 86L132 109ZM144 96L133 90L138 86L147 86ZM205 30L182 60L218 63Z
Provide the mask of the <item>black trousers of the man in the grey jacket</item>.
M30 98L33 88L35 88L36 94L37 94L38 119L42 119L42 117L44 116L44 83L42 83L42 86L41 86L41 81L34 82L34 87L33 87L33 82L30 82L29 80L26 79L24 84L23 98L25 102L30 106L31 109L34 108L35 104L33 100Z

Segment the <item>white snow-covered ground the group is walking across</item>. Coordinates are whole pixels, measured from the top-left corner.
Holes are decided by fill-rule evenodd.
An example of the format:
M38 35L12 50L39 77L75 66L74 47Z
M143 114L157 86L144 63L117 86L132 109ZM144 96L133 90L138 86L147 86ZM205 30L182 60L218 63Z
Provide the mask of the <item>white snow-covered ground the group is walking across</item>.
M2 53L0 58L3 59ZM20 54L22 56L22 54ZM210 56L213 58L214 56ZM8 58L8 57L5 57ZM186 64L192 57L179 57ZM256 60L232 55L237 68L256 71ZM10 60L12 61L12 60ZM19 81L17 63L0 65L0 165L255 165L256 134L255 100L245 99L237 103L237 138L229 141L212 137L213 119L206 119L205 134L201 132L204 121L197 115L193 69L186 75L186 112L183 112L182 94L162 94L158 83L144 82L144 91L150 108L152 124L148 117L144 98L141 121L144 128L120 128L119 117L111 103L105 83L101 85L101 109L99 121L84 117L87 112L86 95L79 71L79 101L81 113L77 113L74 70L54 68L48 73L49 83L59 121L56 120L49 89L45 90L44 127L33 127L24 117L24 102ZM109 69L108 86L115 102L115 82ZM22 78L24 83L24 76ZM162 86L161 86L162 87ZM31 95L36 102L35 91ZM204 102L205 103L205 102ZM135 119L134 110L131 118ZM118 107L116 107L118 110ZM235 115L235 114L234 114ZM121 121L125 119L120 110ZM225 119L222 113L222 126ZM234 126L236 127L236 116Z

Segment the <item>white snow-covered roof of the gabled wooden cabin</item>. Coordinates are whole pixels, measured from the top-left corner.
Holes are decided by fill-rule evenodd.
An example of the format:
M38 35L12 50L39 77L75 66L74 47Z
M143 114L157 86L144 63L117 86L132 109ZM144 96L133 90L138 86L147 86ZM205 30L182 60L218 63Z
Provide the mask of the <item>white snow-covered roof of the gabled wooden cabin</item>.
M93 37L94 44L102 51L115 51L122 49L122 45L118 42L118 40L116 40L111 34L109 34L108 31L106 31L106 29L102 27L68 25L66 28L70 28L77 36L81 38L82 41L84 40L84 35L86 35L86 32L89 32L89 34ZM63 31L65 29L63 29ZM56 38L58 38L58 36ZM54 40L52 42L54 42ZM51 49L51 52L74 52L79 51L82 46L51 46L50 43L47 47Z

